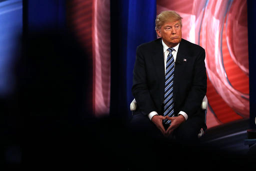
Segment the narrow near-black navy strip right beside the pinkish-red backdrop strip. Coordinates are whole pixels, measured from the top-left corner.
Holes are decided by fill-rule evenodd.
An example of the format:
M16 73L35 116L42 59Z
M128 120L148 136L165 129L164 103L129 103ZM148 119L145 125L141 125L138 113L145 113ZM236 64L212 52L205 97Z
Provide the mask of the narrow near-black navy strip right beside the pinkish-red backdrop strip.
M127 116L126 50L128 0L110 0L111 86L110 115ZM130 112L129 112L130 113Z

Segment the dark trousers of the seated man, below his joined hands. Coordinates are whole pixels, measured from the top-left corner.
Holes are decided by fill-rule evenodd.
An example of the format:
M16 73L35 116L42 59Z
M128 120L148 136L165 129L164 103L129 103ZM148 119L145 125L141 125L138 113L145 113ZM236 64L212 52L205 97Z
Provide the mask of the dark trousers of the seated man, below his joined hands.
M197 134L203 127L204 120L199 115L188 117L181 123L169 137L164 137L155 124L149 120L147 115L136 111L129 123L129 130L132 138L135 138L141 145L166 144L194 146L198 144ZM135 140L135 141L136 141Z

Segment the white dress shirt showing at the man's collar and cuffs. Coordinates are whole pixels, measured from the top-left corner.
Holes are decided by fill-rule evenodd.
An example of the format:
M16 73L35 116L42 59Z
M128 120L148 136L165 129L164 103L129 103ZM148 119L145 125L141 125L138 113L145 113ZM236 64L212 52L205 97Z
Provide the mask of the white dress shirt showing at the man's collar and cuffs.
M163 46L163 56L164 56L164 70L165 70L165 68L166 68L166 59L167 59L167 56L168 56L168 53L169 53L169 51L167 50L169 47L162 41L162 46ZM173 47L174 48L174 50L171 52L172 53L172 56L173 56L173 58L174 58L174 61L176 61L176 56L177 56L177 52L178 52L178 46L179 46L179 43L175 46L175 47ZM175 66L175 65L174 65ZM151 111L149 114L148 114L148 118L151 120L152 119L152 117L154 116L154 115L158 115L158 113L156 112L156 111ZM181 114L181 115L183 115L184 117L185 117L185 119L187 119L187 114L184 112L184 111L179 111L179 113L178 113L178 115L179 114Z

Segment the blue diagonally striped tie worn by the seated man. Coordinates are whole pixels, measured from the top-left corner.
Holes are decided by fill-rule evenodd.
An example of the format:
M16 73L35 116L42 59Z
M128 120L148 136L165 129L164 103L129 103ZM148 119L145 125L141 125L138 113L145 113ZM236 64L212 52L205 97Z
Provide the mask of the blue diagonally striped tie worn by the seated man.
M174 115L174 102L173 102L173 74L174 74L174 58L171 52L173 48L168 48L169 54L166 60L165 67L165 86L164 86L164 108L163 116L167 115L169 117ZM171 124L168 119L163 120L164 124Z

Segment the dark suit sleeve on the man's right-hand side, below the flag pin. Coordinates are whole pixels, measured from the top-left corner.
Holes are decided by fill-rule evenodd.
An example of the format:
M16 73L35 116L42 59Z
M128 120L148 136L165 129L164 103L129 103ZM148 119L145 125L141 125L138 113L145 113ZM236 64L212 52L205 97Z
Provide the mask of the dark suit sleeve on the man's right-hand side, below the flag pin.
M194 63L193 78L190 90L185 99L184 105L181 110L184 111L189 118L189 115L192 115L200 109L200 105L204 95L206 94L207 88L207 76L205 68L205 50L202 49L196 56Z

